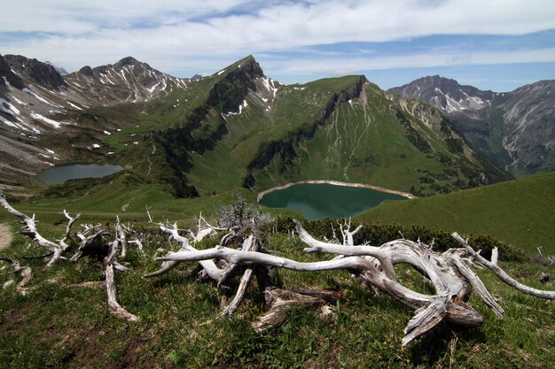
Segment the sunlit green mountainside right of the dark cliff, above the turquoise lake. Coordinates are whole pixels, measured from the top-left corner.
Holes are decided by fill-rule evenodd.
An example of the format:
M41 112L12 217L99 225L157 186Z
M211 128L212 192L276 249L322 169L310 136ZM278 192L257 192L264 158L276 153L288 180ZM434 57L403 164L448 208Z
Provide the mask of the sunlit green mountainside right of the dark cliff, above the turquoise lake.
M187 178L200 194L315 179L434 194L480 185L481 173L506 179L437 111L387 96L361 76L279 86L275 96L257 81L246 103L226 116L214 149L192 153Z

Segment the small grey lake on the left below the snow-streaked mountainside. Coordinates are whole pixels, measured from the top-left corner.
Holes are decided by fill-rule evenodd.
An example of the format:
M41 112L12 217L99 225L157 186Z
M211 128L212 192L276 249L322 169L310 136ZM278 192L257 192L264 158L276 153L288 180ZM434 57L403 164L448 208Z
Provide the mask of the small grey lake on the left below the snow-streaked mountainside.
M120 165L113 164L72 164L56 165L41 173L36 178L48 184L59 184L79 178L99 178L121 171Z

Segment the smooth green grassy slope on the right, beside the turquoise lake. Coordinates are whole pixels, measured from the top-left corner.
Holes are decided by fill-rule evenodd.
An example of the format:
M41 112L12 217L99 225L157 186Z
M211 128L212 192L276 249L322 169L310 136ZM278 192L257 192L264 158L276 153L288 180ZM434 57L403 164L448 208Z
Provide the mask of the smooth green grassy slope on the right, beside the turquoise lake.
M555 254L555 173L446 195L382 204L359 221L489 234L524 250Z

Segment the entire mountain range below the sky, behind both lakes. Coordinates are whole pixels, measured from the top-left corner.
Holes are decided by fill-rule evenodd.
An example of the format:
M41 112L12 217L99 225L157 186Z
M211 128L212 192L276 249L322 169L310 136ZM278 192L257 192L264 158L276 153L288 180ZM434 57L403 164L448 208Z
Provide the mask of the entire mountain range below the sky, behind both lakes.
M439 77L418 81L390 91L362 75L285 85L267 77L252 56L192 79L130 57L62 75L49 63L6 55L0 57L2 181L8 192L25 191L35 173L70 161L118 163L135 184L159 184L179 197L259 192L309 179L427 196L512 178L500 165L515 152L520 161L511 167L524 163L523 146L509 150L511 142L539 129L530 131L527 122L537 114L526 111L543 111L549 93L532 88L535 97L523 105L517 98L525 91L500 96ZM485 136L481 123L501 112L506 123L503 115L498 126L522 132L507 141L508 158L491 143L502 140L504 148L504 135ZM548 127L552 116L538 119ZM522 167L549 170L550 145L528 148L546 150L546 159Z

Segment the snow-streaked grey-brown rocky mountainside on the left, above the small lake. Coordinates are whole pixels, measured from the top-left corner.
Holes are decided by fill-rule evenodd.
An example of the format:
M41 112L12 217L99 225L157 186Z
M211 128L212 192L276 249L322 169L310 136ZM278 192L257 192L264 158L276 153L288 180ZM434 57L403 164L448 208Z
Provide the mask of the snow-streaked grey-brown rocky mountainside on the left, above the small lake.
M18 182L21 176L74 158L78 148L94 150L103 135L120 128L86 111L151 101L173 88L186 88L188 81L134 58L61 75L50 63L0 55L0 173ZM82 135L82 140L61 143L67 135ZM59 145L56 151L54 145Z

